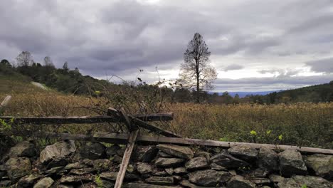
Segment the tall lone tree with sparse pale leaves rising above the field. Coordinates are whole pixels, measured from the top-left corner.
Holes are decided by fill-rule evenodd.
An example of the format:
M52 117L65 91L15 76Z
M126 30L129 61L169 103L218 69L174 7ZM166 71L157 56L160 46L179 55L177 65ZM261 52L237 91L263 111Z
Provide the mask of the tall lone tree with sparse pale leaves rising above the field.
M211 83L217 77L215 68L209 64L209 56L211 52L203 37L195 33L184 53L179 81L186 88L196 90L196 103L200 103L200 90L213 88Z

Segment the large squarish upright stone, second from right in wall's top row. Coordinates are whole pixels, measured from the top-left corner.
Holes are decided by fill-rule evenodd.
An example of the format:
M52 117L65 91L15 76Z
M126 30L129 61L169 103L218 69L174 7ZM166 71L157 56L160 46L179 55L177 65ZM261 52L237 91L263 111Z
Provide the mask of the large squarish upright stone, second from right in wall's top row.
M302 155L297 150L285 150L280 152L280 173L282 176L306 175L307 167L302 159Z

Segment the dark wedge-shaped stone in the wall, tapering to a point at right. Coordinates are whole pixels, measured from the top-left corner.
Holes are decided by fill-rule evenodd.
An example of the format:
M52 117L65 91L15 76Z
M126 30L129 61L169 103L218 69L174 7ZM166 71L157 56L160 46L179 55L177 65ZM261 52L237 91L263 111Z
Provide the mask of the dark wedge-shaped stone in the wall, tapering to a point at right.
M226 167L227 169L247 167L250 165L248 162L238 160L236 157L233 157L226 150L222 150L217 155L211 157L211 162L215 162L216 164Z

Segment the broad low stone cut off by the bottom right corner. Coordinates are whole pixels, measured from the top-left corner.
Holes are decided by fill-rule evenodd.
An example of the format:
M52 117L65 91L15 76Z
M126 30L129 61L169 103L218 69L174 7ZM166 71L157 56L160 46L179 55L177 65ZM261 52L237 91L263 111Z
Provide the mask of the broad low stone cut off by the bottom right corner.
M300 175L285 178L282 182L277 184L279 188L300 188L305 186L308 188L332 188L333 184L322 177Z

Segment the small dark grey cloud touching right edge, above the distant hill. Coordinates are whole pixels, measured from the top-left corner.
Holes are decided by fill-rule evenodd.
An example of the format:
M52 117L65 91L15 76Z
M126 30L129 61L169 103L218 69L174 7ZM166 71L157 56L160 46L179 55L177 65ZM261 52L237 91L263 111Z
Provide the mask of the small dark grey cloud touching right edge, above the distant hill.
M333 58L309 61L305 64L311 67L311 71L317 73L333 73Z

